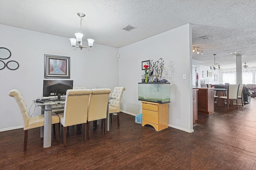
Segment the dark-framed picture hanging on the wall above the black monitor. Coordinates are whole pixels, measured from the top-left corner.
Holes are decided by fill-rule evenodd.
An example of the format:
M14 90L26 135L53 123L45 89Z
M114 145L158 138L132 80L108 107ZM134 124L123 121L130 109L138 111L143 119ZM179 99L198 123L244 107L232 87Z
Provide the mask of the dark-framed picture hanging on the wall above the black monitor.
M44 78L70 78L70 57L45 54Z

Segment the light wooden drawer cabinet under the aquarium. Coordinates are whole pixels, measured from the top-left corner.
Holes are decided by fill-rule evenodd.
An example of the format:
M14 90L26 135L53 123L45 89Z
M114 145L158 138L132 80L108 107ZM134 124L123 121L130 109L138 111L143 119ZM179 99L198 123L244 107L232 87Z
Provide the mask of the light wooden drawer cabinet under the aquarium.
M156 131L168 128L168 103L142 101L142 126L151 125Z

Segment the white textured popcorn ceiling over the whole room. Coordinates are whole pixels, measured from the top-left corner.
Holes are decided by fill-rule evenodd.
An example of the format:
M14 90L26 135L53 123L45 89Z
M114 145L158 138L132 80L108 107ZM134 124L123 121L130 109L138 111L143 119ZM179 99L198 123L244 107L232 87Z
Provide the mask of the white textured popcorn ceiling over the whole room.
M256 66L256 0L0 0L0 23L62 37L75 37L111 47L131 43L192 23L193 53L201 65L220 63L235 68L236 51L242 62ZM137 27L132 31L121 28ZM200 40L209 35L212 39Z

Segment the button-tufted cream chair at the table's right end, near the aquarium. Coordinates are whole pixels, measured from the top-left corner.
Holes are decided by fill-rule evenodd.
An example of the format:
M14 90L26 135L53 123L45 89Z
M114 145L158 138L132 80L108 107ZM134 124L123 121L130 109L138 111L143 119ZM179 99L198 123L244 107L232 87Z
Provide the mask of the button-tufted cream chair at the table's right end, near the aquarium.
M120 113L120 105L121 105L121 100L122 100L124 90L125 90L125 87L115 87L114 88L111 97L116 98L116 99L110 100L110 104L109 104L109 108L108 108L111 122L112 122L112 113L117 113L118 126L120 125L119 113Z

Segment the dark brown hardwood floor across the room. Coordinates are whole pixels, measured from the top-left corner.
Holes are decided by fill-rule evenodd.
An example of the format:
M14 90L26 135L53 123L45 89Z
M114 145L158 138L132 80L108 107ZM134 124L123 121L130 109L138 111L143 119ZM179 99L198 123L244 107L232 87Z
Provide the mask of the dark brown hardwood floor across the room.
M120 113L120 127L114 116L106 135L91 127L87 141L70 127L65 148L62 128L60 143L53 138L50 148L43 148L40 128L30 129L26 152L23 129L1 132L0 169L256 169L256 99L239 109L215 104L214 114L198 114L193 133L171 127L157 132L134 119Z

